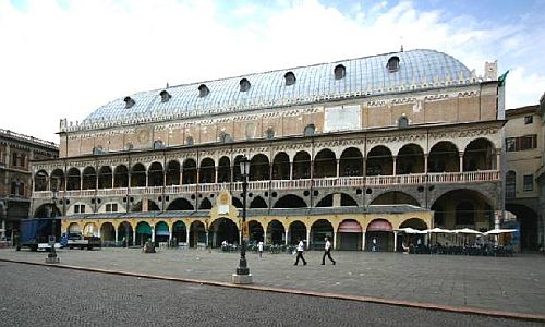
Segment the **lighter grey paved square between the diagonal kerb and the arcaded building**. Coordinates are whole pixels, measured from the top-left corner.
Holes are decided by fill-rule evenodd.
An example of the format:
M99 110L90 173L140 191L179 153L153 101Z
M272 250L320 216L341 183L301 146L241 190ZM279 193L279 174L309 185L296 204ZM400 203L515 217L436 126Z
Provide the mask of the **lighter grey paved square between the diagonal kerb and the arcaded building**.
M239 253L217 250L61 250L61 265L230 282ZM0 259L44 263L46 253L0 250ZM337 265L320 265L322 252L305 253L307 266L290 254L246 258L254 286L373 296L393 301L472 307L545 316L545 256L403 255L334 252Z

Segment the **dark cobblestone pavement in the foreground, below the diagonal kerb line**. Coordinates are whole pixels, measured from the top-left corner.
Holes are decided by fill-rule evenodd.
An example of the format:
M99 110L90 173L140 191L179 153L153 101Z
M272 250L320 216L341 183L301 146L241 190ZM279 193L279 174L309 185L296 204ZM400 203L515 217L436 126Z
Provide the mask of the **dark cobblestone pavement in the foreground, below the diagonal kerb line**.
M0 276L0 326L541 326L7 262Z

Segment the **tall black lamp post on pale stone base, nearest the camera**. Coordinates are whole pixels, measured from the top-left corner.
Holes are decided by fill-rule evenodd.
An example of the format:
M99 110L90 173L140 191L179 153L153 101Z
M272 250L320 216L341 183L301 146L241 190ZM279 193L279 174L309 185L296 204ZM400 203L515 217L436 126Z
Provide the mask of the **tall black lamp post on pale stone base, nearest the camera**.
M233 283L252 283L252 274L246 263L246 193L247 193L247 175L250 174L250 161L243 157L240 161L240 172L242 175L242 240L240 249L240 262L237 268L237 274L232 276Z

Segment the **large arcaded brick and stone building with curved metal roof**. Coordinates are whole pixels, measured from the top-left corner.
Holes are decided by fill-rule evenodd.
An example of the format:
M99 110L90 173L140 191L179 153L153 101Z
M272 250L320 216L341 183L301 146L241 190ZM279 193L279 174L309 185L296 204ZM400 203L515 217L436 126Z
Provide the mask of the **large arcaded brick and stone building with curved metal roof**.
M396 230L488 230L501 213L501 87L412 50L146 90L60 124L33 166L33 213L105 242L250 239L362 250Z

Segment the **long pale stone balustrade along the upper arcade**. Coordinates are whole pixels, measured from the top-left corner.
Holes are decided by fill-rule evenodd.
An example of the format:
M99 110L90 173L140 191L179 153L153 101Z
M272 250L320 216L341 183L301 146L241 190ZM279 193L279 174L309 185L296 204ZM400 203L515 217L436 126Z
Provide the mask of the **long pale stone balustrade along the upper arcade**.
M271 181L250 181L249 191L268 191L268 190L310 190L316 189L340 189L340 187L364 187L364 186L390 186L390 185L415 185L415 184L461 184L497 182L501 178L498 170L468 171L468 172L434 172L434 173L414 173L399 175L372 175L372 177L340 177L340 178L320 178L303 180L271 180ZM143 194L192 194L192 193L215 193L221 190L231 190L242 192L242 182L233 183L205 183L205 184L185 184L169 186L132 186L99 190L77 190L60 191L58 198L62 197L93 197L97 196L123 196L123 195L143 195ZM33 198L51 198L50 191L34 191Z

